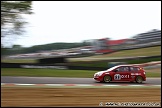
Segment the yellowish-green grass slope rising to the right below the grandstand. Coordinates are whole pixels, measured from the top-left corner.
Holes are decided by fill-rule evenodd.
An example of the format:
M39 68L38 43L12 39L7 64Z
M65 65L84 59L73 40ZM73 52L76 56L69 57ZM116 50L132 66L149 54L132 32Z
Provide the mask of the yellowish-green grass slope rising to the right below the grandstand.
M120 57L155 56L155 55L161 55L161 46L132 49L132 50L122 50L110 54L95 55L90 57L69 58L69 61L71 62L98 61L98 60L108 60L108 59L120 58Z

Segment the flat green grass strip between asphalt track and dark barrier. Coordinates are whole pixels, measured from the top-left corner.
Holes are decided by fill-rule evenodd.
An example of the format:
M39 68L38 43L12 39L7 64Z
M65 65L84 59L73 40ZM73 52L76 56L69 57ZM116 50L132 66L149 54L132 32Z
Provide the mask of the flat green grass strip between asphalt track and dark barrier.
M95 72L97 71L1 68L1 76L93 78L93 75ZM147 77L161 77L161 68L147 69L146 76Z

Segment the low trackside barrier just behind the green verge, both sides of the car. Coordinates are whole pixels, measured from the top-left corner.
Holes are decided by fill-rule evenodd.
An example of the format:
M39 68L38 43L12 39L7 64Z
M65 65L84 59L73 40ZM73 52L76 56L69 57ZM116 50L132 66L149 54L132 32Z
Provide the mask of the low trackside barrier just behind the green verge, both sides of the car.
M142 66L144 68L157 68L161 67L161 61L148 62L142 64L132 64ZM86 66L66 66L66 65L45 65L45 64L32 64L32 63L1 63L1 68L26 68L26 69L70 69L70 70L106 70L108 68L102 67L86 67Z

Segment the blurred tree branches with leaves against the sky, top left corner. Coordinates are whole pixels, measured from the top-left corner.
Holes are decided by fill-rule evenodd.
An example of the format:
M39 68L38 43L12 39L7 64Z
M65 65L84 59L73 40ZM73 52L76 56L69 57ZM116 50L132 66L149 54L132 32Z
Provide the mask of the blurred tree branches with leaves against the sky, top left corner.
M32 14L32 1L1 1L1 38L21 35L24 31L23 14Z

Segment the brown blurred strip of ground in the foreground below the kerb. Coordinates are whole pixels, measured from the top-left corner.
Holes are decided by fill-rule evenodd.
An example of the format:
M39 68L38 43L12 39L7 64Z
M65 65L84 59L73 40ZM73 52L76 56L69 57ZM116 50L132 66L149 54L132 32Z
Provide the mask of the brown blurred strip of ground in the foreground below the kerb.
M160 88L1 88L2 107L99 107L100 103L147 103L160 107ZM123 98L124 97L124 98ZM157 103L156 106L152 103ZM120 104L121 105L121 104ZM138 106L134 107L138 107ZM152 105L152 106L151 106ZM112 106L107 106L112 107ZM125 105L118 107L126 107ZM131 107L131 106L129 106Z

